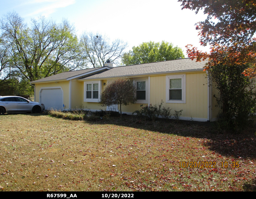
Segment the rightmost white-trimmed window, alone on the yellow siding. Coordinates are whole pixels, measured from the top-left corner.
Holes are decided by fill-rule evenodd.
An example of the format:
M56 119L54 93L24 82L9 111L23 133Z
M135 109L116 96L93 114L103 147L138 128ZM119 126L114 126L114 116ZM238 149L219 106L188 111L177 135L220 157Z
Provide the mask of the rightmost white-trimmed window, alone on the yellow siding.
M166 75L166 103L186 103L186 74Z

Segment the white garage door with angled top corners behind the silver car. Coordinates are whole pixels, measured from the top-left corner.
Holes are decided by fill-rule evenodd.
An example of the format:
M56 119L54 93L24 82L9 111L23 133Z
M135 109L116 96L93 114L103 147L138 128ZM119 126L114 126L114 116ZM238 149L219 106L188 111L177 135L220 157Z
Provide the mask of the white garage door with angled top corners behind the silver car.
M63 91L61 88L42 89L40 92L40 103L45 110L63 110Z

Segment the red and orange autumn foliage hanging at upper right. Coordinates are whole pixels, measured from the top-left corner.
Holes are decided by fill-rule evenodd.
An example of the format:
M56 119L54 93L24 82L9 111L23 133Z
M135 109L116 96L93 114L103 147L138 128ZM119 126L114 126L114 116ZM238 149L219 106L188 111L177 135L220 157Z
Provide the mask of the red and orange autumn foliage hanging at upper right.
M253 0L205 1L179 0L182 9L204 10L208 14L205 21L198 22L200 45L212 46L211 52L202 52L192 45L187 46L187 54L193 60L209 58L208 66L219 63L225 65L251 63L244 71L250 78L256 76L256 4ZM216 22L217 19L218 21ZM208 69L205 67L205 70Z

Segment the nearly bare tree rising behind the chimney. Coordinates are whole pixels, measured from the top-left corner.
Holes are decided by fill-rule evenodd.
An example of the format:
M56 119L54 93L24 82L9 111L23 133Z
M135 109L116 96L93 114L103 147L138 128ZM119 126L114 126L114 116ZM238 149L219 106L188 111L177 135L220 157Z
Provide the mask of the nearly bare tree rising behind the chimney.
M122 40L110 41L110 39L101 34L85 32L80 37L80 45L84 55L84 60L93 68L104 66L106 60L119 65L119 58L124 54L127 43Z

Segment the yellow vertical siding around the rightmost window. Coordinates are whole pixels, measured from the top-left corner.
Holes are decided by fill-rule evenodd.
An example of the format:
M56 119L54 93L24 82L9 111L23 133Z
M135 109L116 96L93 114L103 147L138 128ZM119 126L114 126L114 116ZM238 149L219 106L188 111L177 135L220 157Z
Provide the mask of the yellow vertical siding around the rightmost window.
M207 119L208 88L205 75L205 72L186 73L186 103L166 103L166 75L150 76L150 103L154 105L163 100L163 106L172 109L171 114L183 109L182 117Z

